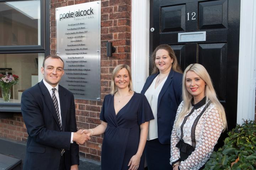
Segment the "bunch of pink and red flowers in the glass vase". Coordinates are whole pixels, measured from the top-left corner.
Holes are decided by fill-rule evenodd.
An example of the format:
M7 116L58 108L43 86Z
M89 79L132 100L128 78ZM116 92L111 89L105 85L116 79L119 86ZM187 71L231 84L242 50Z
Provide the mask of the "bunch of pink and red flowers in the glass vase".
M0 86L3 89L11 88L11 86L18 83L19 77L15 74L11 75L7 72L4 74L0 74Z

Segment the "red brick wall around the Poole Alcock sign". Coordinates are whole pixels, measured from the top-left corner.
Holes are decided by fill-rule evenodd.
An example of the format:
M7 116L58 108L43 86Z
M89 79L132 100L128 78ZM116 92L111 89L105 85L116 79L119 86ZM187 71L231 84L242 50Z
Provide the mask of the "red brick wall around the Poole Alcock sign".
M95 0L50 0L50 53L56 50L55 8ZM112 70L117 64L130 65L131 0L101 0L101 98L110 92ZM116 52L106 57L106 42L113 42ZM100 124L102 101L75 100L76 120L79 129L95 128ZM21 113L13 118L0 119L0 137L17 141L27 140L27 130ZM92 136L80 145L80 155L100 161L103 135Z

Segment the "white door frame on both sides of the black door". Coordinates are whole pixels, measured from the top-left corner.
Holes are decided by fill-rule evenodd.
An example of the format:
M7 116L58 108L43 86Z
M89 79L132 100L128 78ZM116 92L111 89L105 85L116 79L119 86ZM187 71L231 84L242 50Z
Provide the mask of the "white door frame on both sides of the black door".
M150 0L132 0L132 79L140 92L149 76ZM248 16L251 16L248 18ZM237 120L255 119L256 1L241 0Z

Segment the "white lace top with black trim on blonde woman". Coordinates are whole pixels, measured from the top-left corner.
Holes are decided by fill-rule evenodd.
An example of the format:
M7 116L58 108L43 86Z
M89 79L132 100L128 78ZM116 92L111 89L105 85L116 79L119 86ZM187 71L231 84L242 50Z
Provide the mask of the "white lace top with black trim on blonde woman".
M193 113L187 118L186 123L183 126L183 140L185 143L192 145L191 141L191 128L197 118L197 116L202 112L206 104L201 105L201 107L194 109ZM196 106L192 106L193 107ZM171 158L170 164L180 159L180 150L176 147L176 144L181 139L181 124L183 120L179 123L178 128L176 128L176 120L183 108L183 101L178 107L176 119L172 129L171 135ZM188 115L190 113L187 113ZM198 170L200 169L210 158L213 152L213 148L216 145L218 138L223 130L222 119L219 116L217 108L214 104L209 104L206 111L202 114L196 125L195 138L196 147L190 156L185 161L180 164L181 170Z

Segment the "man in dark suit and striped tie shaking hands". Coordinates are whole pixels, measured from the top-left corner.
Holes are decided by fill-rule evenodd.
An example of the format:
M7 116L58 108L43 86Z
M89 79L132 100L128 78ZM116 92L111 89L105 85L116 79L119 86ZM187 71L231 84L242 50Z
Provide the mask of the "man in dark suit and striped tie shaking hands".
M24 170L78 170L79 144L90 139L76 129L73 94L58 83L59 56L44 58L43 80L22 93L21 112L28 140ZM77 131L77 132L76 132Z

